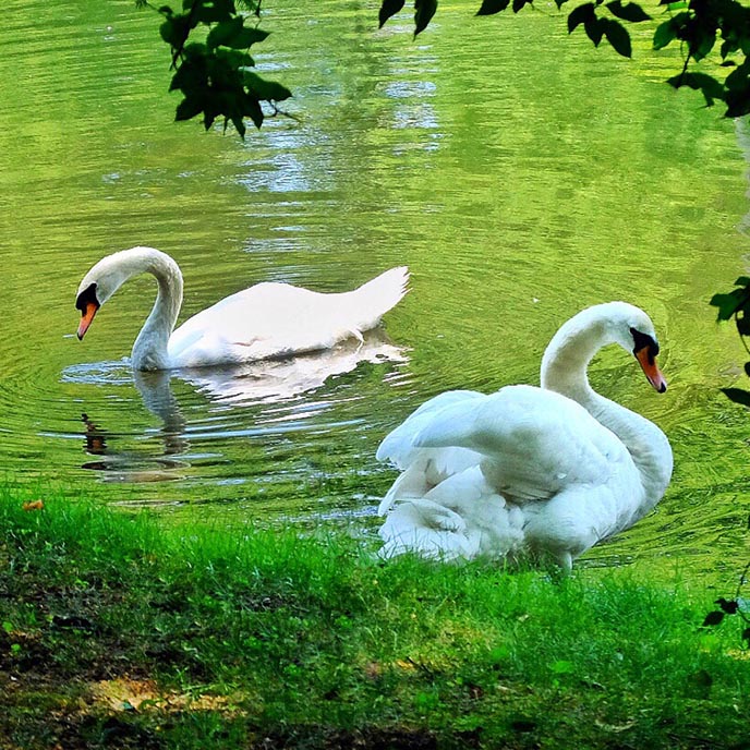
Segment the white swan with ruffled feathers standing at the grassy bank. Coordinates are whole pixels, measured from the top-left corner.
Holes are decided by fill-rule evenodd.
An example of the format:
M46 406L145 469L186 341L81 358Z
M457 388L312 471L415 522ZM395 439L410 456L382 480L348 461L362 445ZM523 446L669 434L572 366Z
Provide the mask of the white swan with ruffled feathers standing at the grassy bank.
M589 362L609 343L632 352L649 383L666 390L651 319L608 302L555 334L541 388L450 390L387 435L376 457L401 474L378 508L387 516L380 556L531 557L569 571L648 513L669 484L672 448L655 424L589 385Z

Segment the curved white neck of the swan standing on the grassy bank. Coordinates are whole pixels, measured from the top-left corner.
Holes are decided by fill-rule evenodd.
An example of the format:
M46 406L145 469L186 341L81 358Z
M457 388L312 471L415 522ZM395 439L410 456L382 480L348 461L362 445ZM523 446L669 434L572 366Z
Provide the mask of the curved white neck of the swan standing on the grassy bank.
M594 354L609 343L620 343L628 330L617 305L590 307L568 320L553 337L542 358L542 387L578 401L600 424L626 446L638 468L651 508L664 494L672 476L672 448L666 435L653 423L619 403L600 396L590 385L586 370ZM628 305L629 307L629 305Z

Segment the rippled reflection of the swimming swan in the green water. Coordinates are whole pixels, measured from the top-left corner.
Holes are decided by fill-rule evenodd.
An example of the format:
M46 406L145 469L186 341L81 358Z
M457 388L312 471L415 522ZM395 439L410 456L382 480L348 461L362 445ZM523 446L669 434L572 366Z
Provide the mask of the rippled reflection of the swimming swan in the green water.
M190 469L189 424L171 388L176 377L194 386L209 401L223 408L282 403L314 391L336 375L353 372L362 363L404 363L406 350L394 346L385 331L376 329L363 341L347 340L332 349L289 359L265 360L231 367L140 372L132 371L134 383L146 409L161 421L158 437L160 455L118 449L117 433L108 432L100 420L86 412L84 451L90 458L83 469L101 472L106 482L141 483L183 479ZM95 365L99 367L100 365ZM69 368L68 380L101 383L92 365ZM122 363L118 363L122 372ZM390 372L390 370L388 370ZM385 376L385 373L384 373ZM126 384L129 380L119 378Z

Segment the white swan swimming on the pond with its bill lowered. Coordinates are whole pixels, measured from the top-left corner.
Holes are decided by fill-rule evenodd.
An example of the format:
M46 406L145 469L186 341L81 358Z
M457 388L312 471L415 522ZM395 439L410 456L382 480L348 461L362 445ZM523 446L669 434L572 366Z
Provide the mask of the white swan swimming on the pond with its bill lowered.
M323 294L288 283L263 282L231 294L173 330L182 305L182 274L154 247L131 247L95 264L78 286L77 337L99 307L133 276L153 274L154 309L133 344L135 370L239 364L329 349L343 339L362 341L407 292L409 271L391 268L349 292Z

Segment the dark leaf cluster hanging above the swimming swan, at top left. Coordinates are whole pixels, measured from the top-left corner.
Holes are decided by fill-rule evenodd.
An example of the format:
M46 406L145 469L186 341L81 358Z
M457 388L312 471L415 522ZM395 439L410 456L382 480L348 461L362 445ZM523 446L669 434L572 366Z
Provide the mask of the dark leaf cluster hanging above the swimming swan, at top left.
M268 33L247 25L249 17L259 16L259 0L242 4L250 16L238 11L234 0L183 0L180 11L169 5L158 9L164 16L159 33L170 46L174 70L169 90L183 96L176 120L201 116L208 130L222 118L225 129L231 122L244 137L245 118L256 128L263 124L262 101L269 102L276 113L276 102L291 96L286 86L251 70L255 62L250 48ZM206 32L201 40L196 29Z

